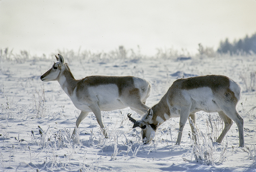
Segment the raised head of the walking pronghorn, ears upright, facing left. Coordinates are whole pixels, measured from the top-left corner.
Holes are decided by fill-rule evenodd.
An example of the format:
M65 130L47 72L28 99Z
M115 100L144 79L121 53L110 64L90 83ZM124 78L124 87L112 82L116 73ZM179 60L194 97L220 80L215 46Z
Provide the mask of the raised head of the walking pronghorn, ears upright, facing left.
M64 65L64 58L62 55L58 54L59 57L55 56L57 59L57 62L52 65L52 68L49 69L47 72L45 72L40 79L44 82L48 81L55 81L57 80L61 70L62 66Z

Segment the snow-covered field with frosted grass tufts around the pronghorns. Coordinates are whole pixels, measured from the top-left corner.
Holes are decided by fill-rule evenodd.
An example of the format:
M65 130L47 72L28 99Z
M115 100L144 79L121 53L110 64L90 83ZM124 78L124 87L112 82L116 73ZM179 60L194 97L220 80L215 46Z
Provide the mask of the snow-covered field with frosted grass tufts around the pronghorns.
M56 53L57 55L57 53ZM245 147L239 148L235 123L221 144L223 123L217 113L198 112L199 144L189 123L176 146L179 118L159 126L154 142L142 145L141 129L132 129L130 108L102 112L105 139L93 113L71 134L80 111L59 83L40 80L51 58L2 58L0 63L0 171L256 171L256 56L191 58L83 58L62 54L76 79L89 75L144 78L152 84L146 105L152 107L178 78L226 75L242 87L237 105L244 119Z

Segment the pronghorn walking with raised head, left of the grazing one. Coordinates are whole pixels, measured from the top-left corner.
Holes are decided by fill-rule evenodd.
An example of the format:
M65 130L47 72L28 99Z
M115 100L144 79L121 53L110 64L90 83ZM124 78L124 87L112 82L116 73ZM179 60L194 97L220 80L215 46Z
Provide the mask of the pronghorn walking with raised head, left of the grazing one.
M93 112L103 134L107 137L101 119L101 111L111 111L130 107L140 115L149 109L145 105L151 91L151 84L134 76L87 76L76 80L64 58L58 54L57 62L41 76L44 82L58 81L61 88L81 110L76 120L76 128L83 119ZM73 134L75 134L75 129Z

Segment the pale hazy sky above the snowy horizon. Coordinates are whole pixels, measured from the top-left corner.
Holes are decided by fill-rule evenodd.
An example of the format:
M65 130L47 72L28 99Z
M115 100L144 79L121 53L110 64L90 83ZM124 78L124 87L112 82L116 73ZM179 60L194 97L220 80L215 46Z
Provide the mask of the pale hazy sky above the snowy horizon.
M0 49L49 55L109 52L123 45L153 56L157 48L218 48L256 33L256 0L0 0Z

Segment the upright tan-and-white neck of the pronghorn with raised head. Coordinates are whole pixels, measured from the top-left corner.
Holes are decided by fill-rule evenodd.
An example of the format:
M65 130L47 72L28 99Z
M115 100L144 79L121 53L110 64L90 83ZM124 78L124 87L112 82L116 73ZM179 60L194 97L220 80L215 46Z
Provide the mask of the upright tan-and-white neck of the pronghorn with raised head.
M74 78L66 63L63 65L63 69L61 69L57 80L64 92L68 96L72 96L77 84L77 80Z

